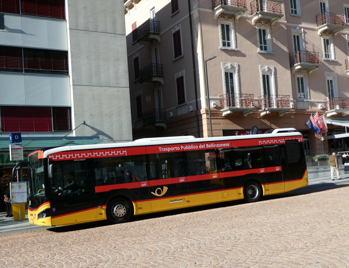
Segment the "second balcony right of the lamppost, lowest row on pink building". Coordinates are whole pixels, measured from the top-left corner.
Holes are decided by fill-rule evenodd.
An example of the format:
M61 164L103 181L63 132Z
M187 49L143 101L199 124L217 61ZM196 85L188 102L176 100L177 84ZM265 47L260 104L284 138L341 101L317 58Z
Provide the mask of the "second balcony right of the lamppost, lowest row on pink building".
M289 95L262 95L258 97L258 107L261 116L271 112L279 112L279 116L288 114L291 110Z

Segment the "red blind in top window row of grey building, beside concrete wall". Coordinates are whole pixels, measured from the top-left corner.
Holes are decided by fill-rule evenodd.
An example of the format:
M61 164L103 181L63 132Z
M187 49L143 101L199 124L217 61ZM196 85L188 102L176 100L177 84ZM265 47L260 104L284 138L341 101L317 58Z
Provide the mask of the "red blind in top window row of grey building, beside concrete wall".
M65 19L64 0L21 0L22 14Z

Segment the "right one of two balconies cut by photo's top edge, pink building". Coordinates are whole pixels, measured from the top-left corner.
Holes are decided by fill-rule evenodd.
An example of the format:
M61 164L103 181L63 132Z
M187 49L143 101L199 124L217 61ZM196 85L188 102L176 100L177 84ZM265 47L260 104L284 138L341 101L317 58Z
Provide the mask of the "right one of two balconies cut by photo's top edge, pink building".
M282 4L278 1L271 0L254 0L250 3L252 23L256 24L258 20L270 21L273 27L275 22L282 17Z

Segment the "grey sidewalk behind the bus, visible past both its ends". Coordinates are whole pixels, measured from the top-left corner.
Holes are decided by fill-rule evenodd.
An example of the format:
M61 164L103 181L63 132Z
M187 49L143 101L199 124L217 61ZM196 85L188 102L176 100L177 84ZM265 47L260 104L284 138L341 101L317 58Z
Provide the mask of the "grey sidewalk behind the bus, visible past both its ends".
M349 184L349 174L341 175L341 178L342 178L341 180L337 180L335 173L334 173L334 177L335 177L334 181L331 181L331 177L309 178L309 185L301 189L305 190L305 189L320 188L324 186ZM25 213L25 220L22 220L22 221L13 221L13 217L7 218L5 216L6 216L6 212L0 212L0 235L52 228L51 226L39 226L39 225L34 225L29 223L28 211L26 211Z

